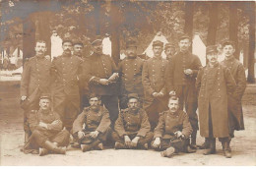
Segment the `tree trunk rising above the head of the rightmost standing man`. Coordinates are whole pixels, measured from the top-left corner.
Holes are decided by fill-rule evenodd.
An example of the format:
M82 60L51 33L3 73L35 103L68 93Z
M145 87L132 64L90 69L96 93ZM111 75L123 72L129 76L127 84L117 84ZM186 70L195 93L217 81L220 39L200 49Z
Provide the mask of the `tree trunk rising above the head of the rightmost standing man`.
M234 57L239 60L237 3L229 2L229 39L235 43Z

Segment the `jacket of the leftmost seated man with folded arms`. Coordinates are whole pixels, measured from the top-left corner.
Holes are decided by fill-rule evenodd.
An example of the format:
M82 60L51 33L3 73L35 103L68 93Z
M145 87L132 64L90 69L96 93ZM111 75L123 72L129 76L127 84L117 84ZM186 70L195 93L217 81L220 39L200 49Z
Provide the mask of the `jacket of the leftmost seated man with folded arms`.
M46 123L47 129L38 126L39 122ZM48 113L43 113L42 110L32 110L29 116L29 124L32 132L38 130L46 135L55 135L63 128L59 115L50 110Z

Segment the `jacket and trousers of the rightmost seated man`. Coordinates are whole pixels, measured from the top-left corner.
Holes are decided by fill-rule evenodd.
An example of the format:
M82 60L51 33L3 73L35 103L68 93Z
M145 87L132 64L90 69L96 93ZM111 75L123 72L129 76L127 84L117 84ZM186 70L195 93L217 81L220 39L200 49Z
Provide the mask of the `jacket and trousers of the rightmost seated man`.
M185 138L177 139L174 134L177 131L180 131ZM187 113L182 110L175 113L166 110L160 114L159 124L154 131L154 140L160 138L159 150L173 146L176 151L186 151L189 143L188 138L192 131Z

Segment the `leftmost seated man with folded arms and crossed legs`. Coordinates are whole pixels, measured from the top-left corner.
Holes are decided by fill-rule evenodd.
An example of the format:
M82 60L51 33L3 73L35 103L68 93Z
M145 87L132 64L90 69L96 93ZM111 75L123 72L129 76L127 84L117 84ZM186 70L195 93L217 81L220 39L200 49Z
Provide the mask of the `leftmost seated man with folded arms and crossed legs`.
M50 110L50 96L42 95L39 100L39 110L32 110L29 116L29 126L32 136L26 142L25 153L39 153L40 156L48 152L66 153L69 144L69 132L63 130L63 125L57 113Z

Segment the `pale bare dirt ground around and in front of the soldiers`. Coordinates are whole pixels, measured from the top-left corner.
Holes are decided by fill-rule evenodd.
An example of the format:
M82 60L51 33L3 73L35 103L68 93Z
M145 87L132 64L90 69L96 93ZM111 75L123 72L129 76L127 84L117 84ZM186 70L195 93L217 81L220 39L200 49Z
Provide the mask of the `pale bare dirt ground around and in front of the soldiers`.
M49 154L43 157L24 154L23 111L19 109L19 85L0 84L0 165L256 165L256 112L255 95L244 102L245 131L235 133L231 141L232 158L224 158L221 143L217 142L217 154L203 155L181 153L172 158L160 157L154 150L90 151L68 148L66 155ZM251 93L251 91L250 91ZM246 97L247 98L247 97ZM254 105L253 105L254 104ZM200 136L198 143L204 141Z

